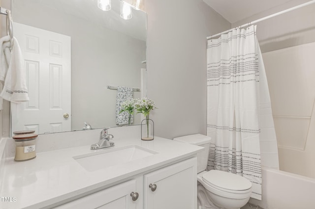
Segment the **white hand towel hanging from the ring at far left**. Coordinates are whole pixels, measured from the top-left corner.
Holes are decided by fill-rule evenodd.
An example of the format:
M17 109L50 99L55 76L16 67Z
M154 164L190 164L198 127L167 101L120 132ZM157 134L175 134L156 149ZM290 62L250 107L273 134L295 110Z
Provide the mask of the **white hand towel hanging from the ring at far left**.
M5 38L6 37L3 37L3 39ZM2 68L5 67L5 63L2 63L3 60L6 60L8 62L8 66L4 79L4 86L1 91L0 97L7 101L20 104L30 100L26 84L24 59L16 38L13 37L13 48L11 52L9 51L8 43L9 42L2 42L1 45L0 80L2 81L4 78L4 70Z

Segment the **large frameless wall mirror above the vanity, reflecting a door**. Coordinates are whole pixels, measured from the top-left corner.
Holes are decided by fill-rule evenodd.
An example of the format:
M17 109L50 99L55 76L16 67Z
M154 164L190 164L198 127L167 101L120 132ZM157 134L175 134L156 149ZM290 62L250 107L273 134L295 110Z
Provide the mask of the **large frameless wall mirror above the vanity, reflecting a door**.
M97 0L12 0L30 101L11 104L11 135L83 130L84 122L93 129L117 126L117 90L108 86L138 88L133 98L145 96L147 15L132 8L125 20L122 3L111 0L103 11Z

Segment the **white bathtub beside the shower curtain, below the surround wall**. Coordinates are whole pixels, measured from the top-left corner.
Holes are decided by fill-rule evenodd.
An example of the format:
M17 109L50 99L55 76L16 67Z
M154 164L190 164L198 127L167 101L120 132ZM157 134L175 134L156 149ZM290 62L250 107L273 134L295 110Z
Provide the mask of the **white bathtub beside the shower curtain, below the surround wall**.
M249 202L263 209L314 209L315 179L262 167L262 200Z

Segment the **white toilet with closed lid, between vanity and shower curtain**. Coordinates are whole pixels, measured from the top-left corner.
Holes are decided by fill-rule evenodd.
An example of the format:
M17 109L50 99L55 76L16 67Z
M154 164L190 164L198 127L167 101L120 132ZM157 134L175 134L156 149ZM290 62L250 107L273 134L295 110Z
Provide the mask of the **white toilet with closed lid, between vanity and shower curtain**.
M198 209L240 209L250 199L252 183L236 174L206 171L211 137L193 134L174 138L205 150L197 154Z

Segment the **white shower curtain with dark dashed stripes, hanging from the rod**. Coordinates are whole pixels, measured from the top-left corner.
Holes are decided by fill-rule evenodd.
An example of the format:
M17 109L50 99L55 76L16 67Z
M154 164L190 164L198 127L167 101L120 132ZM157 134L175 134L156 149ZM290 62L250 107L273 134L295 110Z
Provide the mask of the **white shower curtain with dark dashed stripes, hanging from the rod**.
M208 170L244 176L252 182L251 197L259 200L260 71L265 76L260 56L256 26L237 28L208 41L207 135L212 137Z

